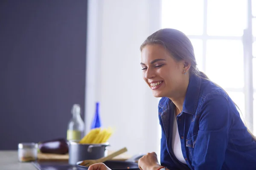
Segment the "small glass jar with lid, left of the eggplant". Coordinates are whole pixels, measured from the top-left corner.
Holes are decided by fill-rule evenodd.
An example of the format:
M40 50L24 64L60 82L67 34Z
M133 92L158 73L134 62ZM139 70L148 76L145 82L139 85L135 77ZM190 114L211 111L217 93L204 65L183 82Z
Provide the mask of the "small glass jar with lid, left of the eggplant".
M18 144L18 159L20 162L29 162L37 160L38 144L20 143Z

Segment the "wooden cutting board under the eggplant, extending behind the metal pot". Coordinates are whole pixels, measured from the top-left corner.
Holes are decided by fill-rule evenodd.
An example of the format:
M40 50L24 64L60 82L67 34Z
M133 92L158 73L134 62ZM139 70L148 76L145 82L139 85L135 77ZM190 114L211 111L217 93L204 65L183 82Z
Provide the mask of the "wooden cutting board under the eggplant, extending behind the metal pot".
M114 151L108 150L108 154L113 153ZM38 153L38 161L62 161L62 162L68 162L68 154L60 155L60 154L52 154L52 153ZM126 160L131 158L130 155L126 153L122 153L119 156L116 156L113 158L113 160Z

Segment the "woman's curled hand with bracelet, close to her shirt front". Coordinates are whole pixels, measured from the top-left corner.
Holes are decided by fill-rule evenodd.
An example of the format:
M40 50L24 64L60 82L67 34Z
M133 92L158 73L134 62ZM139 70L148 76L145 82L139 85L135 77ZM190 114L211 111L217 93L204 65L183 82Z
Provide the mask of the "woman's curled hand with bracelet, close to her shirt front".
M154 152L147 153L141 157L138 164L141 170L157 170L158 168L162 167L157 160L157 154Z

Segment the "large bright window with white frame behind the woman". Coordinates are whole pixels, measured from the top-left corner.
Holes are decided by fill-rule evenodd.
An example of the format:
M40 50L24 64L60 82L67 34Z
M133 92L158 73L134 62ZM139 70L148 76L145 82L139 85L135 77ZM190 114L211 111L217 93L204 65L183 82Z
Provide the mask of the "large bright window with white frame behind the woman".
M250 66L250 56L256 57L256 18L248 14L252 8L256 16L256 0L249 5L245 0L162 0L162 28L175 28L189 37L198 69L227 91L245 122L254 115L250 130L256 134L256 58ZM252 32L244 35L250 25ZM252 51L244 48L251 38ZM246 105L245 101L253 100L251 94L254 101Z

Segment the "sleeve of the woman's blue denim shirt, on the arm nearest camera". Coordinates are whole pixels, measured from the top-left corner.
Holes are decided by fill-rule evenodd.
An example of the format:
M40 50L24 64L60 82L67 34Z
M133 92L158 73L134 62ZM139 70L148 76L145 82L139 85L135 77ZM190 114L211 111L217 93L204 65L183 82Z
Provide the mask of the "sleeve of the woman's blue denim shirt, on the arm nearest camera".
M232 123L230 103L221 94L213 94L199 107L201 115L192 166L195 170L221 170Z

